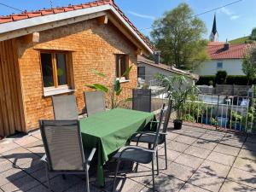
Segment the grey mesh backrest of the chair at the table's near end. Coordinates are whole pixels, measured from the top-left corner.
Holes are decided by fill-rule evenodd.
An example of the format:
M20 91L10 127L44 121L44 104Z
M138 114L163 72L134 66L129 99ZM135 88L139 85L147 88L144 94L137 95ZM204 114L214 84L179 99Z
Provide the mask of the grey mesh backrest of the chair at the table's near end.
M84 171L78 120L42 120L40 131L51 171Z

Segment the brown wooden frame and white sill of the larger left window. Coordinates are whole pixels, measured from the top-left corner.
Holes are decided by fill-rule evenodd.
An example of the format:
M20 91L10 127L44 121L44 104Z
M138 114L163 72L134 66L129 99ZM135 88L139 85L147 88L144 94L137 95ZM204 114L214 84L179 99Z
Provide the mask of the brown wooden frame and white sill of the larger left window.
M42 61L41 61L41 54L50 54L51 55L51 64L53 68L53 81L54 81L54 86L49 86L49 87L44 87L44 74L43 74L43 66L42 66ZM59 85L58 82L58 75L57 75L57 60L56 60L56 54L64 54L65 55L65 61L66 61L66 74L67 74L67 84L61 84ZM46 50L46 49L41 49L38 51L39 55L39 61L40 61L40 69L41 69L41 79L42 79L42 86L44 89L44 96L52 96L52 95L57 95L61 93L67 93L71 92L71 75L70 75L70 52L69 51L64 51L64 50Z

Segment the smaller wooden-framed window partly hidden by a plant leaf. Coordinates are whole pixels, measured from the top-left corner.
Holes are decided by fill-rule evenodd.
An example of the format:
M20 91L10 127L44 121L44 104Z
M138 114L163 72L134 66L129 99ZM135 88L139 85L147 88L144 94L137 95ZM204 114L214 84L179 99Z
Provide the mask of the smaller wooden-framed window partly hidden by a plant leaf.
M129 67L129 58L128 55L116 55L116 77L121 79ZM129 77L123 77L128 79Z

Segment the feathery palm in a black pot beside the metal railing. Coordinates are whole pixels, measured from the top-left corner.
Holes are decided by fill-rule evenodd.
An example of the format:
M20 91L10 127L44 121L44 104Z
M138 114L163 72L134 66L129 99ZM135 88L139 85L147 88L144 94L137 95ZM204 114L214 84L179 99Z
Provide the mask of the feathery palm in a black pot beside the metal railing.
M165 76L158 75L157 79L166 87L167 97L174 101L172 108L177 112L177 119L173 121L174 129L181 129L183 125L182 112L186 108L186 100L195 95L198 89L192 83L189 76Z

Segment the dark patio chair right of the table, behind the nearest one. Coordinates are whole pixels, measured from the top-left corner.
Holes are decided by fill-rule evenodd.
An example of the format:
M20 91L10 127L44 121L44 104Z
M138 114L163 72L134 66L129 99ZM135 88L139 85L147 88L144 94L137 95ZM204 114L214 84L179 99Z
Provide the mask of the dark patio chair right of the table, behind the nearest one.
M166 135L167 135L167 128L168 128L171 113L172 113L172 100L169 100L168 108L165 115L164 125L162 126L162 129L160 129L159 138L158 138L159 145L163 143L165 144L166 169L168 168L167 167L168 161L167 161ZM131 142L136 142L137 145L138 143L148 143L150 145L154 143L155 134L156 133L152 131L138 132L135 137L131 138ZM156 154L158 158L158 152ZM159 165L157 165L157 172L159 173Z

